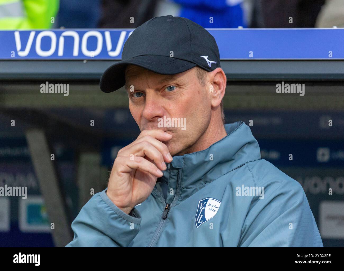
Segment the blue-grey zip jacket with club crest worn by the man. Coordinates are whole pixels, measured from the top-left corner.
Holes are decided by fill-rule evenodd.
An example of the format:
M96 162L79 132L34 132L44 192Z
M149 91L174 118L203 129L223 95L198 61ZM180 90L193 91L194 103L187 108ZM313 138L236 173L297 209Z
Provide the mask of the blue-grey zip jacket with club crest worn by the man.
M209 148L173 157L130 215L107 189L95 194L73 221L67 247L322 247L301 185L260 159L245 123L225 129Z

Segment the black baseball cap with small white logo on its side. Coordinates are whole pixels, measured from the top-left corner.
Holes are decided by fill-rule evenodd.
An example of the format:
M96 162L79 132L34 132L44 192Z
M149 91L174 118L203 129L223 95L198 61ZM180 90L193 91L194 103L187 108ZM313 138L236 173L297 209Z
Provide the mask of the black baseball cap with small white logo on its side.
M163 75L195 66L206 71L221 67L215 38L201 25L172 15L152 18L131 33L123 46L122 60L101 76L100 89L112 92L123 87L128 64Z

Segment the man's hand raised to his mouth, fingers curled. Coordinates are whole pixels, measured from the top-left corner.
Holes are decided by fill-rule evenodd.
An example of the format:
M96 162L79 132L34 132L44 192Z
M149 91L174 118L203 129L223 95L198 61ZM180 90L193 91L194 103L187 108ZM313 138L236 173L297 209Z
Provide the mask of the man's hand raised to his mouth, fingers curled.
M172 156L165 144L172 135L162 130L144 130L137 139L118 151L110 173L109 199L129 214L137 204L147 199L158 177Z

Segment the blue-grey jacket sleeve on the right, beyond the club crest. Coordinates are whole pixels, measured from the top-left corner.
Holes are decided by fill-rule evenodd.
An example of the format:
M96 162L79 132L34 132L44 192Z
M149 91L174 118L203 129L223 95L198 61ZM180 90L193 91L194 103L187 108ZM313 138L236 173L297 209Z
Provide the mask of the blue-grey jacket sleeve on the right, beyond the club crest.
M303 188L291 178L251 202L241 234L240 247L323 247Z

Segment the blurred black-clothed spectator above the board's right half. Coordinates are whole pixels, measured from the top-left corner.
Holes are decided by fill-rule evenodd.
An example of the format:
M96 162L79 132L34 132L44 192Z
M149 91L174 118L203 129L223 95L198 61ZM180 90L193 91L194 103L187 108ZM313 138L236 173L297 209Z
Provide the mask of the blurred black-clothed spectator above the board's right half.
M314 27L325 0L252 0L250 27ZM292 17L292 23L290 22Z

